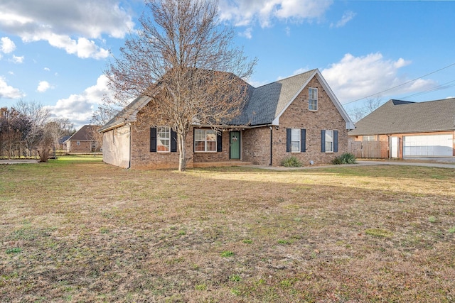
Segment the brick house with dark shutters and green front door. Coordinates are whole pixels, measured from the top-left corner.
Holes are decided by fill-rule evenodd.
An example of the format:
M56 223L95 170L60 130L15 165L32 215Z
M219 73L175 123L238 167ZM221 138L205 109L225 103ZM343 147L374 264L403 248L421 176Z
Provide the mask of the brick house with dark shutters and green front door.
M193 126L186 142L187 167L238 161L278 166L291 155L304 165L321 164L347 152L348 130L355 126L319 70L249 89L242 114L223 131ZM135 126L149 100L138 97L100 129L105 162L132 168L178 167L171 128Z

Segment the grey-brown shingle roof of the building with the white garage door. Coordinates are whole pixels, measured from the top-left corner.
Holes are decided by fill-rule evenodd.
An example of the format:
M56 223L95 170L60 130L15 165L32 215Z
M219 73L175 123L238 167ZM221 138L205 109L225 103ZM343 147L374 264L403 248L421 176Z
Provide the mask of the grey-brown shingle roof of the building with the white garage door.
M350 136L455 130L455 98L425 102L389 100L355 123Z

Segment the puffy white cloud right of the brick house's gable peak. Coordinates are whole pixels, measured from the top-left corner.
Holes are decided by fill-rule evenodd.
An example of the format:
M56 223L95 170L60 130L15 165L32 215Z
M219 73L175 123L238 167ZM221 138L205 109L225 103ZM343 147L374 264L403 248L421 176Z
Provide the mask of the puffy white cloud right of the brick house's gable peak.
M396 61L386 60L380 53L362 57L346 54L340 62L333 63L321 72L336 97L341 103L346 103L378 93L404 94L433 87L433 80L419 79L410 82L410 79L399 75L399 69L410 63L402 58ZM410 83L401 85L406 82Z

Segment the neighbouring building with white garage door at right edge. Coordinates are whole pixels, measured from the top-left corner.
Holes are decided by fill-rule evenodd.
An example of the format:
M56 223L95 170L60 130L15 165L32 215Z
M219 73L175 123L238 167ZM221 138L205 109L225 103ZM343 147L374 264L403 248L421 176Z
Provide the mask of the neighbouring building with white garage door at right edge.
M378 141L379 158L455 156L455 98L390 100L355 126L350 138L365 145Z

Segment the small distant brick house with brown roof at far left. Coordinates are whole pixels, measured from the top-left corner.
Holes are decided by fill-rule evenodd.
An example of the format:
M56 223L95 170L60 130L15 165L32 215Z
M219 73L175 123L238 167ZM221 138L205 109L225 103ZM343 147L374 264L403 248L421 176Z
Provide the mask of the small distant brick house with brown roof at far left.
M67 153L92 153L100 151L102 143L97 140L97 133L100 126L85 125L76 131L73 136L63 142Z

